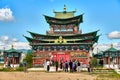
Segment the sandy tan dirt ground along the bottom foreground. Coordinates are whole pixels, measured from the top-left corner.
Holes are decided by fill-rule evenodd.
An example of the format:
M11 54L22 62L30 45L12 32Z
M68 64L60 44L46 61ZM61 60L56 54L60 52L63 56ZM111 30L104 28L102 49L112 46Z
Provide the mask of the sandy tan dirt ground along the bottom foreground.
M86 72L0 72L0 80L94 80L95 78Z

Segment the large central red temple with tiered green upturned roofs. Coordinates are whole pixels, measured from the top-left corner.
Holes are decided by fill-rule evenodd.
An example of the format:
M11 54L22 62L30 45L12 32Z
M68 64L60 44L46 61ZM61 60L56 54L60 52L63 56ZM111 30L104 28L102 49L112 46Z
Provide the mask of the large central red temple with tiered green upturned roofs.
M93 44L99 39L99 30L82 33L80 23L83 22L83 14L74 16L74 11L53 11L55 16L44 15L50 30L45 34L28 31L32 37L24 36L34 51L33 65L41 65L44 60L78 60L87 65L92 57ZM42 29L42 28L41 28Z

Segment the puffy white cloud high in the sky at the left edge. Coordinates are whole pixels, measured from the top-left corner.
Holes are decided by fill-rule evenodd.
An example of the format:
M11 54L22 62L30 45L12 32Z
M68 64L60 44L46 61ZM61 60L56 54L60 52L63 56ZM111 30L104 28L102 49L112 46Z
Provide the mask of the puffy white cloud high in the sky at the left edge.
M14 20L13 12L10 8L0 9L0 21L12 21Z

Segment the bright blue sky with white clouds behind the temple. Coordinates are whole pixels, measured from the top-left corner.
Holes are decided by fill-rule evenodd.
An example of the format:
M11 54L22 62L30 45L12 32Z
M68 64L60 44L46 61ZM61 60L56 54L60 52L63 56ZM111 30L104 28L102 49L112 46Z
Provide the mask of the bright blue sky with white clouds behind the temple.
M120 0L0 0L1 47L13 42L22 47L27 43L22 35L30 36L27 30L46 34L49 25L43 14L54 16L53 9L63 11L64 4L67 11L76 8L75 15L84 13L80 25L83 33L100 29L98 43L114 43L120 49Z

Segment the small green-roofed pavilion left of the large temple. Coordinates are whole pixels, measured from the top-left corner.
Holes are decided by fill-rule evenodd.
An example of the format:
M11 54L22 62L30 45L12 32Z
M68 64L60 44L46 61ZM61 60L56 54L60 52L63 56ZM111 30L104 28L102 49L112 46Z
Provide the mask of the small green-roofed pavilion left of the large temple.
M13 48L4 51L4 67L19 67L20 64L20 51Z

